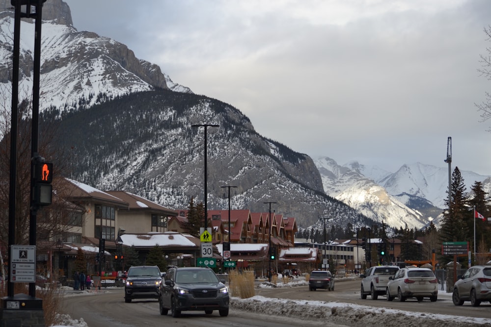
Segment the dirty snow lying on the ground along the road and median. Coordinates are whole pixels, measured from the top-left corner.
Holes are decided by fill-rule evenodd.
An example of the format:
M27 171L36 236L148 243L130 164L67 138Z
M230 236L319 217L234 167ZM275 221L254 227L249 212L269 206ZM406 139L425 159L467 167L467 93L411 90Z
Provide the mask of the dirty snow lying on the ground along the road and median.
M358 277L355 277L358 278ZM295 278L293 281L283 283L279 278L276 285L267 281L259 284L260 288L275 287L296 287L308 285L308 282L301 278ZM109 288L109 287L108 287ZM100 292L102 294L104 292ZM77 294L87 295L87 292ZM91 293L97 295L98 293ZM74 294L71 294L74 295ZM67 295L68 296L68 295ZM451 293L440 291L439 299L452 299ZM389 308L378 308L368 305L357 305L343 302L324 302L309 300L289 300L274 299L262 296L253 296L248 299L238 297L231 298L230 307L236 310L247 312L257 312L268 315L290 316L305 320L319 320L329 323L346 325L346 326L377 326L377 327L483 327L491 326L491 319L472 318L464 316L450 316L425 312L410 312L404 310L395 310ZM68 315L63 315L61 325L52 325L51 327L89 327L81 318L80 320L72 319Z

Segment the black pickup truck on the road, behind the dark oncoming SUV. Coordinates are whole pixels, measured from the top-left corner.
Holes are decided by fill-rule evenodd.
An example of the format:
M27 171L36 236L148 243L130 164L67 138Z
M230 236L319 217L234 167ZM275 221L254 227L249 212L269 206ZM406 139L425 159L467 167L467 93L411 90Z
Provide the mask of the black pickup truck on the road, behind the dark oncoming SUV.
M158 299L162 273L157 266L133 266L128 269L124 285L124 301Z

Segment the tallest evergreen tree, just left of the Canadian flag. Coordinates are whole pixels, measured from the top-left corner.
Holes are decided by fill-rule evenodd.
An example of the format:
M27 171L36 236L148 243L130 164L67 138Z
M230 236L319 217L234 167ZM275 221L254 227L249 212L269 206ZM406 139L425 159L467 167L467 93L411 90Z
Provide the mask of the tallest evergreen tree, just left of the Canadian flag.
M446 200L448 210L443 213L440 240L442 242L469 241L469 201L465 193L464 178L458 167L455 167L452 173L450 198L450 201ZM452 261L453 256L445 256L443 260Z

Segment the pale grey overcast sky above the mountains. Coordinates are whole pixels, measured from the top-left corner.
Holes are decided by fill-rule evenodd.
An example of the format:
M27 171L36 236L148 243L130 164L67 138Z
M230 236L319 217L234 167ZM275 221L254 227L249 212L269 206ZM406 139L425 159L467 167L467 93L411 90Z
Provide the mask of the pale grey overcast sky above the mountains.
M196 94L316 159L491 175L489 0L65 0Z

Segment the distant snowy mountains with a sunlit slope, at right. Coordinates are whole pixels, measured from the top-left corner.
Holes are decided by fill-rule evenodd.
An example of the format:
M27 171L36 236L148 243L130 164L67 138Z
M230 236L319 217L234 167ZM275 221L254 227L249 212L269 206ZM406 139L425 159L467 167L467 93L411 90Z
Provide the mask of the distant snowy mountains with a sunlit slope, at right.
M389 226L420 228L429 221L438 226L448 190L448 169L415 163L403 165L396 173L356 161L339 166L323 157L315 160L325 192L360 210L367 217ZM461 172L469 192L475 181L483 182L490 194L491 178ZM423 225L421 225L423 224Z

